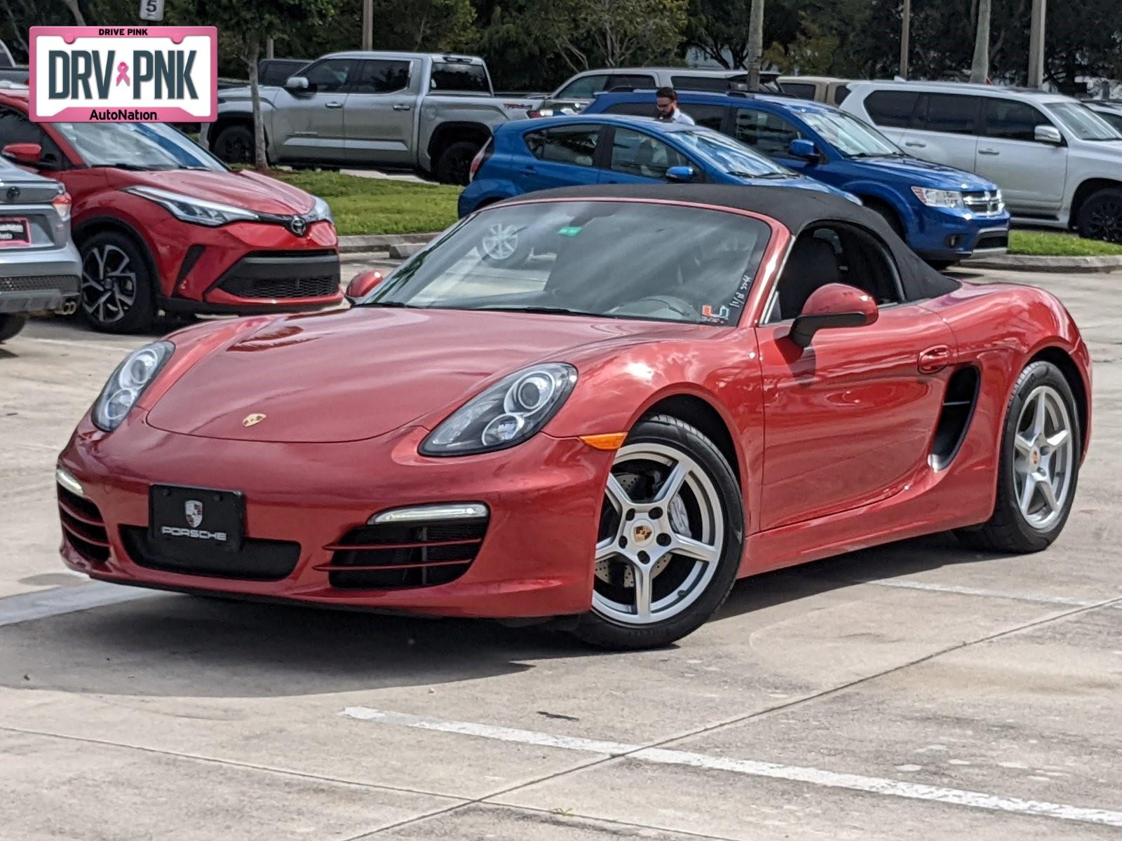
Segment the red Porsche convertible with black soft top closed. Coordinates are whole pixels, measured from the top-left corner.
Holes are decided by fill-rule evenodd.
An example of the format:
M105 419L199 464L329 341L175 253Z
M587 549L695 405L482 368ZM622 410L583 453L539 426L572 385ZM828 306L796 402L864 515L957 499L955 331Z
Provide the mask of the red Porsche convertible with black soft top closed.
M765 570L944 529L1042 549L1087 450L1055 297L825 194L539 193L351 297L129 355L58 461L66 563L641 648Z

